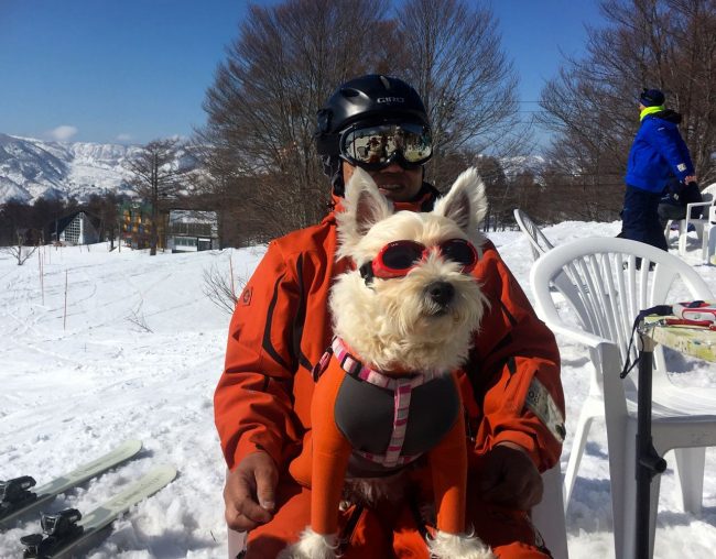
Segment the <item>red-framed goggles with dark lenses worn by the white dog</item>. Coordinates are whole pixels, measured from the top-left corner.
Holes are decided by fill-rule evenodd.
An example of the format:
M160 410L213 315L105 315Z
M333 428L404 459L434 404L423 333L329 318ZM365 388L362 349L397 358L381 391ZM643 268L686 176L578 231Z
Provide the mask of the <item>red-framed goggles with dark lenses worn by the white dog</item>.
M444 260L459 264L464 274L469 274L477 264L477 250L465 239L449 239L436 246L425 246L415 241L393 241L380 249L373 260L360 266L360 275L366 282L373 277L403 277L433 251Z

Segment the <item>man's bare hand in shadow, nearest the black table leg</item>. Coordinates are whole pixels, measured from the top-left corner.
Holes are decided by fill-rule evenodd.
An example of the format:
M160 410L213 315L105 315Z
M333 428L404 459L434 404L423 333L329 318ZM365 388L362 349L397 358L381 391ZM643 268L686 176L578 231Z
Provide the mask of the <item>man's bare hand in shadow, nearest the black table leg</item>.
M485 454L478 485L490 503L529 511L542 501L542 476L519 445L500 442Z

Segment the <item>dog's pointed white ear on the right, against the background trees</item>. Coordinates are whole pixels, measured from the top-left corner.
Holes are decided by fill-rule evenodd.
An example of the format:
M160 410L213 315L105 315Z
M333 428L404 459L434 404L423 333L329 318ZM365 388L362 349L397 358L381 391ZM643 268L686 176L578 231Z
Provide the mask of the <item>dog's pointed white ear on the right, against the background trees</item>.
M474 234L487 216L485 185L475 167L464 171L448 193L435 202L433 212L455 221L467 233Z

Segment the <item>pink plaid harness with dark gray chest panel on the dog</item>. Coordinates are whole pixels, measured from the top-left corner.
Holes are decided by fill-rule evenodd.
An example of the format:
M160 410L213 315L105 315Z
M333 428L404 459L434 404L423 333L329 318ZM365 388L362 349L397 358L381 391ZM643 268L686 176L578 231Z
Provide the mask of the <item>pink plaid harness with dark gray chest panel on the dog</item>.
M387 376L351 355L336 337L314 368L315 381L332 359L347 373L334 417L354 448L349 474L390 474L437 445L455 425L462 406L452 374Z

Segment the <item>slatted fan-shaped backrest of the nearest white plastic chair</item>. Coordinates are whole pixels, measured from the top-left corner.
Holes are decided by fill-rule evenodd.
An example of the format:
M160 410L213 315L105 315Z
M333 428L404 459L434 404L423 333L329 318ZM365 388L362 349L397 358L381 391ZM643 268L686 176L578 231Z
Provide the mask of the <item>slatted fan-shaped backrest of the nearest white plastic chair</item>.
M532 266L530 283L538 314L545 322L575 322L554 300L550 285L555 285L576 311L578 327L612 342L622 366L627 358L633 361L637 357L637 344L629 350L629 341L641 310L669 303L670 294L681 297L671 303L714 299L706 282L683 260L644 243L609 237L579 239L551 250ZM592 358L599 359L594 353ZM665 379L660 347L654 351L654 363ZM634 376L630 375L627 388ZM658 382L655 376L657 372ZM603 379L593 381L603 386ZM619 382L618 386L623 394L625 385Z

